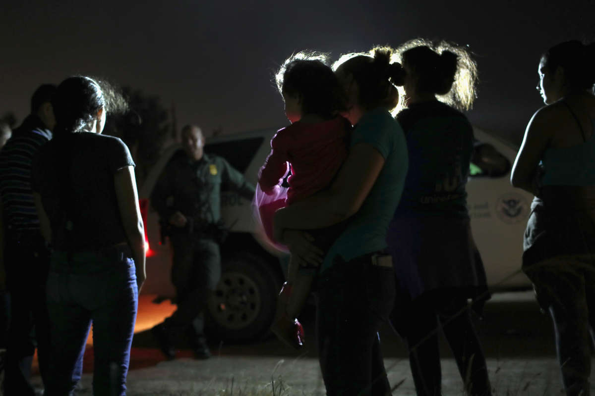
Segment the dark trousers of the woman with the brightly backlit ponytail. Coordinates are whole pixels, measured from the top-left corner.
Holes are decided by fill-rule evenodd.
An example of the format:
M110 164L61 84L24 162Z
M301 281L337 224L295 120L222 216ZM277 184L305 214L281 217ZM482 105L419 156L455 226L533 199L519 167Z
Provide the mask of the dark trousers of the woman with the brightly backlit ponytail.
M405 326L396 325L405 328L406 334L401 335L409 348L409 365L418 396L441 395L440 328L453 351L467 394L490 395L486 357L466 299L433 294L419 297L411 304L408 318L393 316L392 319L408 322Z

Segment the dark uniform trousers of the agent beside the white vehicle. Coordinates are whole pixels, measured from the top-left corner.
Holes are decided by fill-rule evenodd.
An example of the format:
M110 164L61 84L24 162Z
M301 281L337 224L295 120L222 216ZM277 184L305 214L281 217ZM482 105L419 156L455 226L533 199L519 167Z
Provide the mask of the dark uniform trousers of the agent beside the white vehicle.
M219 245L191 233L172 235L170 240L174 251L171 281L176 287L177 309L165 324L175 331L192 324L193 336L201 338L206 302L221 278Z

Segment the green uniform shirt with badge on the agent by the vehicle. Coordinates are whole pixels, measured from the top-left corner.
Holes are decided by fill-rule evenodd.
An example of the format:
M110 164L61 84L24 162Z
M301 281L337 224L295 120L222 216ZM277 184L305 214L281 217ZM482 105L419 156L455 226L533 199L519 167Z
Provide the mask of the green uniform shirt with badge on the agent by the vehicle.
M252 199L255 191L222 157L203 154L195 161L180 151L165 167L151 202L162 220L180 211L197 225L214 224L221 219L221 189L237 191L245 199Z

